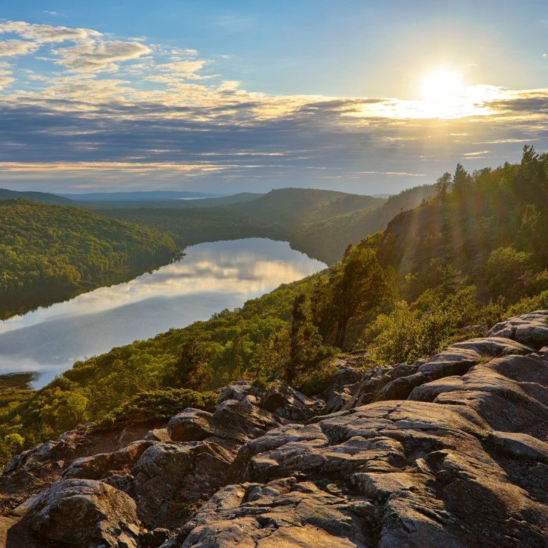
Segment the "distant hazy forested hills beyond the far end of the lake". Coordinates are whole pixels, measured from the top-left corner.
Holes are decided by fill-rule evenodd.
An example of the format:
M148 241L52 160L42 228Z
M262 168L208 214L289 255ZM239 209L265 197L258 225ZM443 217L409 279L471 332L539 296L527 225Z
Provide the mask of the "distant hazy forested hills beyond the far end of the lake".
M236 195L177 204L95 203L101 214L169 232L182 245L236 238L285 240L308 256L334 264L349 243L384 230L402 210L434 195L433 185L388 199L314 188L279 188L266 195ZM82 204L84 206L84 204ZM130 207L131 206L131 207Z

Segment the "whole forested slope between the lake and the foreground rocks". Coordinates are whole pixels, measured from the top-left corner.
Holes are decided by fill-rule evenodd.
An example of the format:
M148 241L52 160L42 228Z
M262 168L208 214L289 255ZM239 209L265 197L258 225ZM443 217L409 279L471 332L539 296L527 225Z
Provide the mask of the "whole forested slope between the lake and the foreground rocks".
M86 421L108 428L185 402L210 408L211 390L236 379L320 393L341 353L362 356L364 369L414 362L548 308L547 188L548 154L532 147L518 164L458 165L432 198L364 234L323 272L77 362L40 390L3 389L2 462Z

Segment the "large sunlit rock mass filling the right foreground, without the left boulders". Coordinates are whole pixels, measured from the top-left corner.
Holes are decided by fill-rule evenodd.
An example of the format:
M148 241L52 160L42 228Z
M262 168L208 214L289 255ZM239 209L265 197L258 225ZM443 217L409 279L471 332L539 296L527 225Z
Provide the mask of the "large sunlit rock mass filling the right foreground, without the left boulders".
M547 317L377 368L345 410L249 441L164 548L545 546Z

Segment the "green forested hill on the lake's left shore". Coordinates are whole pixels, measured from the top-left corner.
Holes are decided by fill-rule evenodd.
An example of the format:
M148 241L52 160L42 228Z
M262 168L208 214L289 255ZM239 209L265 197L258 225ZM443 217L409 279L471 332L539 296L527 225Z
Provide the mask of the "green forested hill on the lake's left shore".
M78 208L0 201L0 317L169 262L169 236Z

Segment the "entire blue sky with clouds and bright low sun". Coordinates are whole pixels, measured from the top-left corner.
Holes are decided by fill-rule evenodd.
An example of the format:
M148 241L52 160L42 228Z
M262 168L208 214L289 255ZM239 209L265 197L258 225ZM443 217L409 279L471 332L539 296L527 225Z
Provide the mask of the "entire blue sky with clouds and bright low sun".
M360 194L548 151L546 0L0 6L0 186Z

